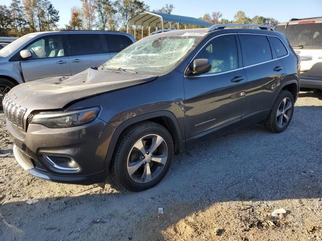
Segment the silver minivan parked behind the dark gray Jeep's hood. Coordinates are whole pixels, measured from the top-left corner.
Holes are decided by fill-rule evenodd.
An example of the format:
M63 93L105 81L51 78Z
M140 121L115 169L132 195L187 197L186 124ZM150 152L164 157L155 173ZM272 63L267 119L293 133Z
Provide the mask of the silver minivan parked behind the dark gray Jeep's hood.
M109 31L27 34L0 50L0 108L17 84L100 66L133 42L131 34Z

